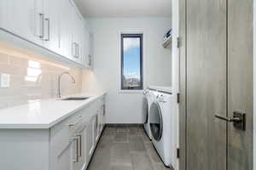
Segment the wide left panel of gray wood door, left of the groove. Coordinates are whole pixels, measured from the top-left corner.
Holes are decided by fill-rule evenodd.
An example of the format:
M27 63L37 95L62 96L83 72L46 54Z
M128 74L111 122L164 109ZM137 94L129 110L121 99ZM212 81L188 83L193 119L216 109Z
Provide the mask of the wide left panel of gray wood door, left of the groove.
M187 1L187 169L226 169L226 3Z

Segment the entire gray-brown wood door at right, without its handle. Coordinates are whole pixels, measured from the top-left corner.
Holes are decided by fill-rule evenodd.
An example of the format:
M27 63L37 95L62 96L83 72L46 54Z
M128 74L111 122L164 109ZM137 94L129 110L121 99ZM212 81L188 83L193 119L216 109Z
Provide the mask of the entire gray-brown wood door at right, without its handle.
M181 167L252 170L253 0L186 0L183 8L186 166ZM234 111L246 113L245 131L214 117L231 118Z

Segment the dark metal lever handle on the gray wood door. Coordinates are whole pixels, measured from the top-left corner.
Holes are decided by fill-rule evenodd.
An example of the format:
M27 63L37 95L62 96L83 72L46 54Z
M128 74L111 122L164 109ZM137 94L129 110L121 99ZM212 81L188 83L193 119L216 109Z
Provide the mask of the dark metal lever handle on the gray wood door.
M234 127L241 130L246 130L246 114L245 113L234 111L232 118L219 116L219 115L215 115L215 117L226 122L233 122Z

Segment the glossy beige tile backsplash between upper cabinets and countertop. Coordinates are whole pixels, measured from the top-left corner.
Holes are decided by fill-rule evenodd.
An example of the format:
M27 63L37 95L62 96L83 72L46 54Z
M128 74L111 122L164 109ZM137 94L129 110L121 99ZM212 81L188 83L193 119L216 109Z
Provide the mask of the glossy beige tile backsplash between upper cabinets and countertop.
M0 87L0 109L55 98L57 77L64 71L68 71L76 82L73 84L70 77L63 76L61 94L80 93L82 71L78 67L0 47L0 75L10 77L9 88Z

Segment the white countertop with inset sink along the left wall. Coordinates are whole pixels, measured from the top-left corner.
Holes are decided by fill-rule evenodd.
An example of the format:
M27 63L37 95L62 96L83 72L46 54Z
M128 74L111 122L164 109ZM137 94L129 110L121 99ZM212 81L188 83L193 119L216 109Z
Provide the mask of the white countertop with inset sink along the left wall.
M0 110L1 128L49 128L71 116L90 102L102 97L98 95L72 95L67 97L90 97L85 100L48 99L27 105Z

